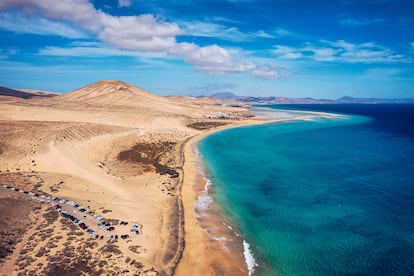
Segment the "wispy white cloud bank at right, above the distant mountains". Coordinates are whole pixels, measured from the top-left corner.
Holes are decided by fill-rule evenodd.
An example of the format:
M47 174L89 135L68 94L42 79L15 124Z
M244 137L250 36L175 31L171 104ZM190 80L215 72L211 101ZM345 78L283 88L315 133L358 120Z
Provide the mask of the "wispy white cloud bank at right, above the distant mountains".
M275 45L273 53L281 59L302 59L320 62L343 63L407 63L410 57L397 54L391 49L373 42L353 44L343 40L320 41L315 46L306 43L302 47Z

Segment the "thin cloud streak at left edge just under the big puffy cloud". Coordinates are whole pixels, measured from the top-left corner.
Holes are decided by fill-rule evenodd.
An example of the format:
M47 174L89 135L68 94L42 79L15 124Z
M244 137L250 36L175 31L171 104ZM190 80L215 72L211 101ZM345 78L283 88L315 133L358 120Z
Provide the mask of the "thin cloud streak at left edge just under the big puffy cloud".
M0 29L37 35L56 35L67 38L86 38L87 35L67 24L39 16L22 16L17 13L0 13Z

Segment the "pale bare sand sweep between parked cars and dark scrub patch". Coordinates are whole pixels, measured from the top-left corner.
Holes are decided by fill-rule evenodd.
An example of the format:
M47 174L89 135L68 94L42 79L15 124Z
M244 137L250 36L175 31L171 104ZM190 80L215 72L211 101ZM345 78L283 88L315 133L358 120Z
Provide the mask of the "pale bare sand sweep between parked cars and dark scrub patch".
M119 177L102 168L105 157L114 151L114 143L133 140L139 135L137 129L129 129L98 134L84 140L52 140L45 152L34 157L34 160L36 170L51 175L53 179L44 185L60 182L67 176L57 196L75 200L85 207L90 205L91 210L109 209L111 212L104 215L106 218L144 225L144 231L134 238L133 243L120 243L119 248L130 254L129 246L140 246L148 252L136 254L144 265L163 267L162 257L169 250L164 243L169 238L170 230L163 223L168 209L165 209L166 201L160 197L162 192L158 186L165 180L152 174ZM155 185L146 187L145 183ZM42 189L47 190L47 186Z

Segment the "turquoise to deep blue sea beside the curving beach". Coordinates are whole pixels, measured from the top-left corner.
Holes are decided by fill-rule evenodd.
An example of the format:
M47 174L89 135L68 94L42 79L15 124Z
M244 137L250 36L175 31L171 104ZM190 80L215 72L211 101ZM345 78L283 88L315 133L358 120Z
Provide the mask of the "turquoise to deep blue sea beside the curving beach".
M414 105L271 108L348 115L200 142L212 196L250 244L254 275L414 275Z

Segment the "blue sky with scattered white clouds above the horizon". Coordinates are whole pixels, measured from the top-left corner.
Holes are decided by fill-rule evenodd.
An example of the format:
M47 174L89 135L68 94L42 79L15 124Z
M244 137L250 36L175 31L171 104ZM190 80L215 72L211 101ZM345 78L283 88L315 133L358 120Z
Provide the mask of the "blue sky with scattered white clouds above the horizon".
M412 0L1 0L0 86L414 98Z

